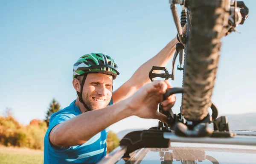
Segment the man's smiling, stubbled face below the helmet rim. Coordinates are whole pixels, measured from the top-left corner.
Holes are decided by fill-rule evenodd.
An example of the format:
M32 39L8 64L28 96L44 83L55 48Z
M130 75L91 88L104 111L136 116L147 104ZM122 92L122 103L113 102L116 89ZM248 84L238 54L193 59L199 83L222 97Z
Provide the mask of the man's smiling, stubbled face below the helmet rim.
M92 110L106 107L112 96L113 77L111 75L89 73L85 79L82 98Z

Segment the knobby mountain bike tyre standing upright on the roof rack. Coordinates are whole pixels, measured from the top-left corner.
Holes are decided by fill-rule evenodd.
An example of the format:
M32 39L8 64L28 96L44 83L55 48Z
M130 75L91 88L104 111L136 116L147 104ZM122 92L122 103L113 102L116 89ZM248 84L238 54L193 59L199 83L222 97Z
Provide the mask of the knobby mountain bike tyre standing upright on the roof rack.
M181 113L189 121L208 114L228 6L229 0L188 0Z

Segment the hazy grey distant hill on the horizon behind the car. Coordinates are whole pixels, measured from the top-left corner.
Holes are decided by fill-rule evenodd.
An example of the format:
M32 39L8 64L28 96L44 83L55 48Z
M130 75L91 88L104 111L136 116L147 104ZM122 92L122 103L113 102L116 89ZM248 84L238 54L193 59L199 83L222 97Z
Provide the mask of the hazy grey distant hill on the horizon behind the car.
M244 113L244 114L227 114L220 115L227 116L227 121L229 122L230 130L255 130L256 131L256 113ZM156 125L157 126L157 125ZM126 134L146 129L128 129L122 130L117 133L119 139L122 139Z

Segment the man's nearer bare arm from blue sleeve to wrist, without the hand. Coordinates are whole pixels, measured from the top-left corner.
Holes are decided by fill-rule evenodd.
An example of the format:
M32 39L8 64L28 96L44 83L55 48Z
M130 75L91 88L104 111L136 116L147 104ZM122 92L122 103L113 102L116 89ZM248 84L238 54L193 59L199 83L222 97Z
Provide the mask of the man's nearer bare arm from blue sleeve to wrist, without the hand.
M57 125L50 133L50 139L60 147L83 144L111 124L129 116L132 116L131 110L122 101L104 109L82 113Z

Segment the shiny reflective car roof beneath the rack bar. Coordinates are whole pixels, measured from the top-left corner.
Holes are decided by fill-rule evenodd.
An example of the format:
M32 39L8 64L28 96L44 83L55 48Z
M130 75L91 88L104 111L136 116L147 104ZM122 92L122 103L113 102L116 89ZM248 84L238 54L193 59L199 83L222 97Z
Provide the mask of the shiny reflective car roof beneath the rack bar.
M141 148L116 164L255 164L256 147L224 144L192 144L171 142L169 148Z

